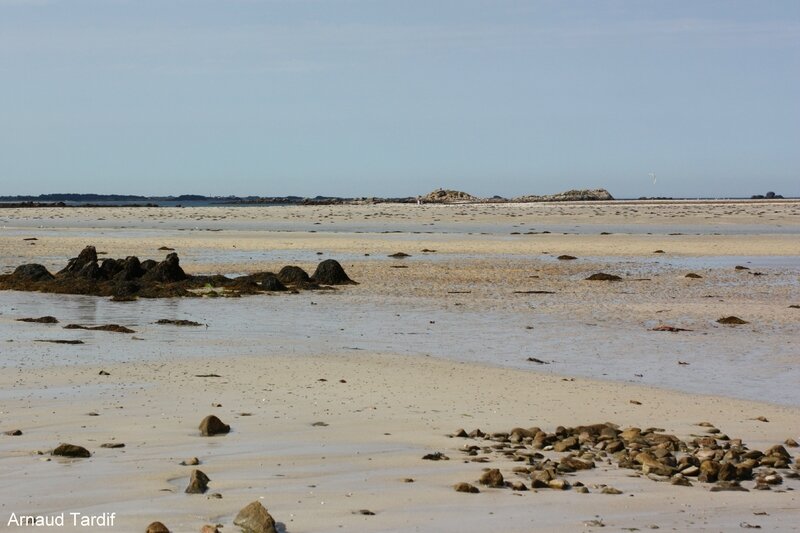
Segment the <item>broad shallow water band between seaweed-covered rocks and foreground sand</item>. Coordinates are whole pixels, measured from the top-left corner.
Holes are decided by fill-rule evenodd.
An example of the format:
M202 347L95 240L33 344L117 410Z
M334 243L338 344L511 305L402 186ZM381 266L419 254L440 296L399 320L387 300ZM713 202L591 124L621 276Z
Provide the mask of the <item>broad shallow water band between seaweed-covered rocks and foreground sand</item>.
M0 366L9 369L365 350L800 405L800 356L791 335L780 330L753 335L749 329L714 325L708 331L672 334L639 325L565 321L533 308L527 313L448 310L433 299L377 301L346 290L119 303L21 292L4 292L0 298ZM48 314L61 324L15 321ZM154 324L162 318L190 319L207 327ZM70 322L123 324L136 333L62 328ZM764 335L770 342L764 342ZM85 344L36 339L81 339ZM528 362L528 357L549 364Z

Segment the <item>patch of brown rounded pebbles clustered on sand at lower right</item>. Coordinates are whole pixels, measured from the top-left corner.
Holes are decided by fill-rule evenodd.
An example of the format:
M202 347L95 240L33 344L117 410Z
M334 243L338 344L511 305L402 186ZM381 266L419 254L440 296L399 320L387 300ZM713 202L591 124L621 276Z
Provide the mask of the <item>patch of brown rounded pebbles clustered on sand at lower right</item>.
M595 468L598 463L616 464L634 470L654 481L672 485L692 486L692 481L710 484L711 491L748 491L742 482L752 482L751 488L770 490L781 485L784 478L800 478L800 456L792 459L787 450L798 446L786 439L767 450L751 450L741 439L732 439L708 422L698 424L704 435L682 440L664 433L660 428L620 429L616 424L589 426L559 426L552 433L538 427L513 428L508 432L487 434L480 429L467 433L463 429L452 437L470 439L459 450L469 461L488 463L502 456L522 463L513 468L514 481L507 481L500 469L485 469L479 483L491 488L509 487L513 490L555 489L589 492L580 481L570 482L575 472ZM561 453L560 457L553 453ZM426 458L429 458L426 456ZM526 484L527 482L527 484ZM597 485L604 494L621 491ZM470 483L454 486L458 492L477 493ZM789 489L791 490L791 489Z

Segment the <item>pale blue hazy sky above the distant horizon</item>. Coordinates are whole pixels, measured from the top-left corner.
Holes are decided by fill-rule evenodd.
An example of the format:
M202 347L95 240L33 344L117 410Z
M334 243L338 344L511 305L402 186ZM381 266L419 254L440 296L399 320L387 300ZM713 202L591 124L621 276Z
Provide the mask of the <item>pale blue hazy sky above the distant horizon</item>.
M0 0L0 195L438 187L800 196L800 2Z

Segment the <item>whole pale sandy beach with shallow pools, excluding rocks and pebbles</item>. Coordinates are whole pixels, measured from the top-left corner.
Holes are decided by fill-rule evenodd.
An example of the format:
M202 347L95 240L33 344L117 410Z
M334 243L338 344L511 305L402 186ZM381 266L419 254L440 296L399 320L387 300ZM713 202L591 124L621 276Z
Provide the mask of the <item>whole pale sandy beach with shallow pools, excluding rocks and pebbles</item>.
M788 444L794 469L771 490L677 486L597 460L564 474L588 487L580 494L487 488L484 468L528 488L530 475L511 456L463 451L493 441L451 436L610 422L691 441L708 422L749 449L800 440L800 202L4 209L0 227L3 273L55 272L94 245L157 260L172 248L192 274L311 272L333 258L359 282L132 302L0 292L0 430L22 433L0 435L4 528L12 513L80 512L116 513L113 531L155 520L238 531L254 500L289 533L800 522L800 482L787 475L800 448ZM598 272L621 280L585 280ZM44 315L59 324L18 321ZM728 316L747 323L717 322ZM38 342L57 339L83 344ZM201 436L210 414L231 432ZM60 443L92 456L51 456ZM422 459L434 452L449 460ZM184 493L194 467L179 463L191 457L206 494Z

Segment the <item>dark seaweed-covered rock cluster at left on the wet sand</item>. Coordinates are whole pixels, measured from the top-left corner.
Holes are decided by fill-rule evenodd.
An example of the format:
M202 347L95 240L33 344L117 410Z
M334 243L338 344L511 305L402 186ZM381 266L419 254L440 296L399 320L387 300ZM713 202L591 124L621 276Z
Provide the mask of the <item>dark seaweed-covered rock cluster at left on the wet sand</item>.
M240 296L286 290L316 290L331 285L354 284L334 259L321 262L313 276L298 266L287 266L278 274L257 272L228 278L222 275L193 276L184 272L174 252L163 261L125 259L98 260L94 246L84 248L67 266L52 274L43 265L18 266L0 275L0 290L39 291L58 294L111 296L114 300L169 298L179 296ZM209 287L213 289L207 291ZM217 292L216 289L221 289ZM213 293L213 294L212 294Z

